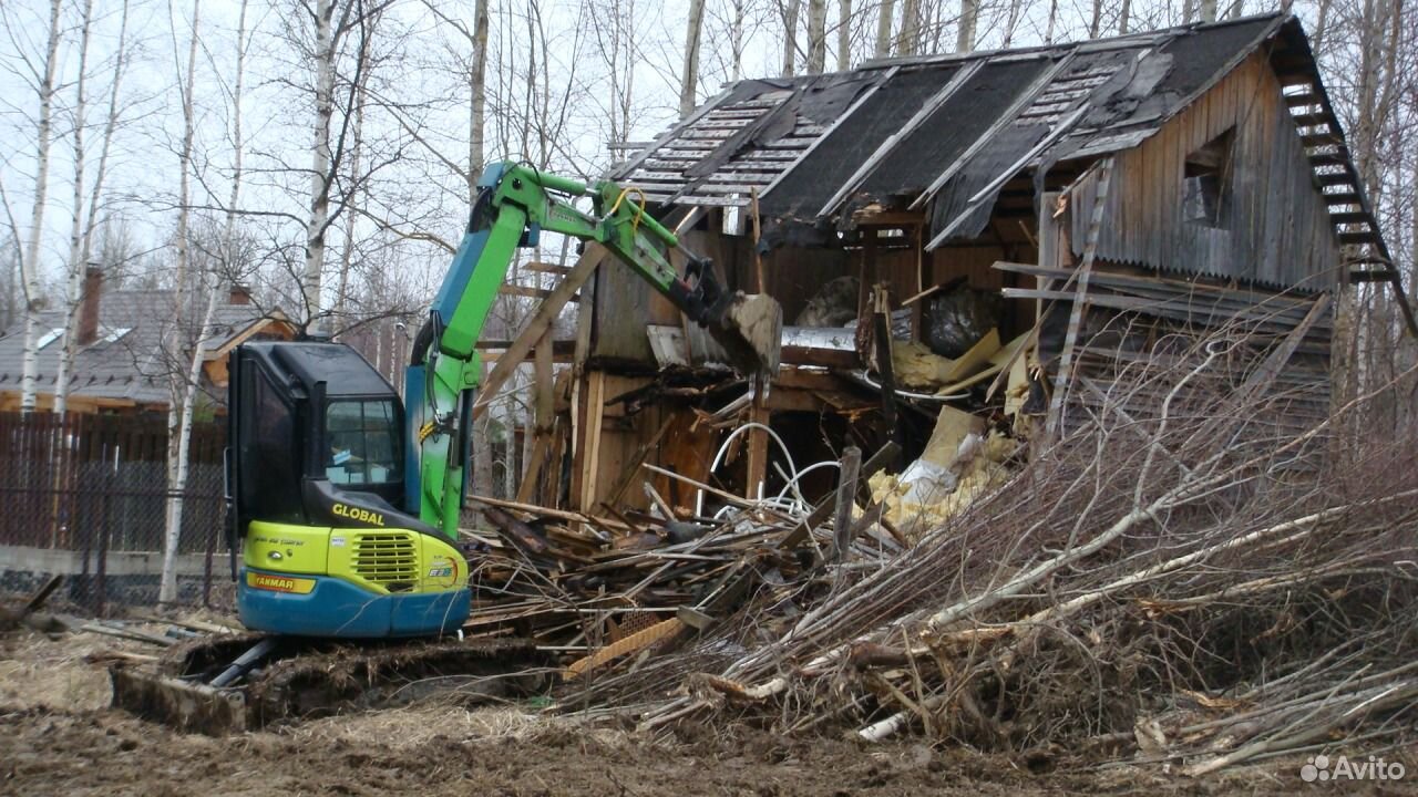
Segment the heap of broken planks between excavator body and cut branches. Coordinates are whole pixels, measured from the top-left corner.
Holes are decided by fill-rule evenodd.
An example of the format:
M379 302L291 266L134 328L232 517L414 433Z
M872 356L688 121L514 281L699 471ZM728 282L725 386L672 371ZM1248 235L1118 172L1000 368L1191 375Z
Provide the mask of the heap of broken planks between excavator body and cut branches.
M474 591L464 632L530 638L576 681L669 651L750 600L786 625L797 611L790 594L814 583L827 589L837 567L903 549L868 488L898 454L886 444L862 461L848 448L839 488L800 508L715 491L726 511L692 522L474 496L489 528L462 532Z

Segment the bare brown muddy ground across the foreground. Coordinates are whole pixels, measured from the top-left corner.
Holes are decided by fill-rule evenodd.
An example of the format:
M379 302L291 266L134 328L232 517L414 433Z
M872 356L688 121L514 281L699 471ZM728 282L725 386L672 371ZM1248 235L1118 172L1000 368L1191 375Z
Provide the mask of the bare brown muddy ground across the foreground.
M686 729L672 743L516 708L447 702L329 718L227 739L180 735L108 708L85 657L142 645L74 634L0 638L0 794L906 796L1418 794L1407 781L1305 784L1303 759L1191 780L1157 767L1031 773L1005 756L919 742L783 739Z

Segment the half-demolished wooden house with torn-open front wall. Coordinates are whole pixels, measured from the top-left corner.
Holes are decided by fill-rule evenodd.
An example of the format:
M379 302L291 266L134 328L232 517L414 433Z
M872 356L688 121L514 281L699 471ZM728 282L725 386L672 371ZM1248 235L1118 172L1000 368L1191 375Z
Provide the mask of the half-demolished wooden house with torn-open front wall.
M1056 434L1177 328L1258 335L1278 423L1303 428L1329 411L1336 296L1398 281L1285 14L740 81L613 177L787 325L747 396L627 269L594 247L567 269L574 367L553 393L543 338L518 498L623 520L705 513L691 481L815 499L837 476L805 471L847 445L905 464L933 433Z

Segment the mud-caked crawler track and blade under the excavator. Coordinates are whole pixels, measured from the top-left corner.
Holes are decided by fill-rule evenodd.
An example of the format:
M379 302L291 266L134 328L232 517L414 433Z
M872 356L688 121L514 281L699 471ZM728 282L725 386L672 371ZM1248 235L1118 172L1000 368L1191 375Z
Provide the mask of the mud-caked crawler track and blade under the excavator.
M258 644L268 657L237 682L213 681ZM549 661L513 638L337 642L224 634L174 645L156 667L113 665L113 706L183 732L255 730L346 710L406 705L430 693L468 702L546 688Z

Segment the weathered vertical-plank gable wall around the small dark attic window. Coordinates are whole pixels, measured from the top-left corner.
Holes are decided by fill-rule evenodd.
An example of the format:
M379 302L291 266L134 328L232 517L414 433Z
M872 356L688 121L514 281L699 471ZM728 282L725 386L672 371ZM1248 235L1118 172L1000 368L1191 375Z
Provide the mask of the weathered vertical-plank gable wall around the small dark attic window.
M1232 133L1229 189L1218 227L1184 218L1190 153ZM1336 284L1339 241L1280 82L1261 54L1244 61L1136 149L1119 153L1098 257L1163 271L1323 291ZM1075 194L1093 203L1096 177ZM1089 214L1072 214L1082 252Z

